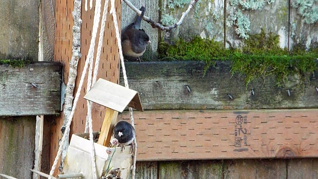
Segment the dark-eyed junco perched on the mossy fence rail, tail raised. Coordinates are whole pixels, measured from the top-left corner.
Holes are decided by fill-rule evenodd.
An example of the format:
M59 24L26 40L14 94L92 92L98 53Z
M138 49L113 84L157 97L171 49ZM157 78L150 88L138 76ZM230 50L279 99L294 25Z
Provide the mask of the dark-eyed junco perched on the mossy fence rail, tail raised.
M143 6L140 8L142 13L145 10L146 8ZM140 29L141 21L142 18L138 16L136 21L128 25L121 35L123 55L125 55L126 59L129 57L134 59L138 58L137 60L139 60L139 62L139 57L145 52L147 44L151 43L147 33L143 29Z

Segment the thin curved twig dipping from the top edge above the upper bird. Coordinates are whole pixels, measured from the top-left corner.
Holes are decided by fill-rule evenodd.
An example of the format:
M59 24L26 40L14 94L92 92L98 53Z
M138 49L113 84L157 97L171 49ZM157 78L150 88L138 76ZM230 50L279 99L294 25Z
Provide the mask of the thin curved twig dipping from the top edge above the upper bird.
M167 30L176 28L177 26L180 26L182 24L184 17L189 13L189 11L192 9L192 7L198 2L198 0L192 0L190 2L190 5L189 5L187 11L182 13L180 20L176 24L170 25L167 27L167 26L161 25L160 23L155 23L151 18L145 16L143 14L143 12L140 11L138 8L136 8L129 0L122 0L122 1L124 1L133 11L135 11L138 16L142 17L142 19L144 21L148 22L152 26L152 28L158 28L162 31L167 31Z

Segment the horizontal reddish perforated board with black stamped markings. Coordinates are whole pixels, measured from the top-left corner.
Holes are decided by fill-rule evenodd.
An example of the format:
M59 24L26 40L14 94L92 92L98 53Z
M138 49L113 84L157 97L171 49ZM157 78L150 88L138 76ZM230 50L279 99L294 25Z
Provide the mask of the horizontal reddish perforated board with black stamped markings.
M129 121L122 113L120 120ZM134 112L137 160L318 157L318 110Z

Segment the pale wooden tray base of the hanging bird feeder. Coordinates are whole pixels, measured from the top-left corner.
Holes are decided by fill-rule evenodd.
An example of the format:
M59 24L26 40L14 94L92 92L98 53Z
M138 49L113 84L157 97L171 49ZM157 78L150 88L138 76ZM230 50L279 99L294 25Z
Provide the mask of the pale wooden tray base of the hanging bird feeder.
M94 132L93 135L96 136L98 132ZM91 157L91 143L84 137L89 137L89 133L73 134L71 138L70 145L67 149L65 163L63 167L64 174L83 174L83 179L92 179L92 157ZM94 143L95 147L95 164L96 164L96 174L97 178L107 175L107 166L109 164L109 159L113 158L110 162L110 167L113 168L125 168L121 171L121 178L128 178L130 165L132 162L131 146L126 146L121 153L121 147L111 148L112 153L108 155L106 150L108 147Z

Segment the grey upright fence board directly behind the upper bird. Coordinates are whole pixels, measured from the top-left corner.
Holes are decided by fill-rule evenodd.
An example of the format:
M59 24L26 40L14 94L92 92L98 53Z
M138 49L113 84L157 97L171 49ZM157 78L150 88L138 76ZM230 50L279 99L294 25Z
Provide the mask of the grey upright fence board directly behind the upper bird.
M138 9L141 6L146 8L145 16L150 17L153 21L159 21L159 7L158 1L154 0L141 0L141 1L131 1ZM136 13L131 10L126 3L122 3L121 6L121 27L122 30L131 23L133 23L136 19ZM152 28L150 24L146 21L142 20L140 28L144 29L145 32L149 36L149 40L151 41L151 45L148 45L146 48L145 53L140 57L140 59L147 59L147 60L156 60L157 57L157 48L158 48L158 29Z

